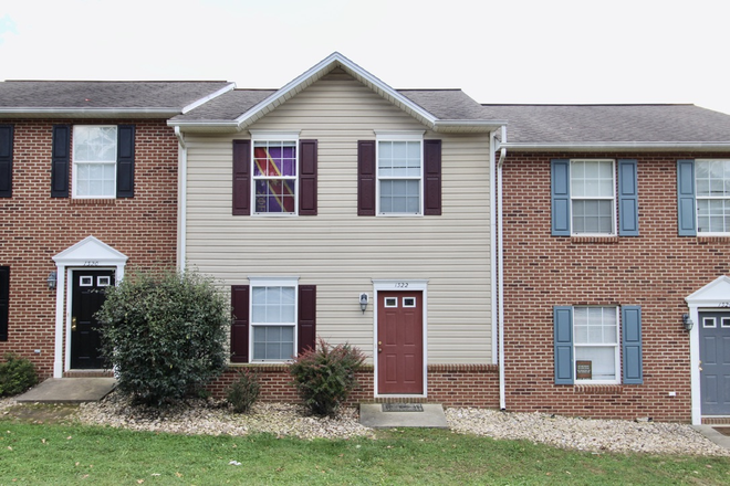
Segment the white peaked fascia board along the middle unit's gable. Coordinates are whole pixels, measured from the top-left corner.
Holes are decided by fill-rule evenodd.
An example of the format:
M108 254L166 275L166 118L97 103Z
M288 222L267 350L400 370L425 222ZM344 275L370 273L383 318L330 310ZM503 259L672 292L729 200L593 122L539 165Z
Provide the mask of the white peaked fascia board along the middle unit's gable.
M357 81L359 81L361 83L373 89L378 95L388 99L390 103L395 104L400 109L410 113L413 116L421 120L425 125L432 127L434 124L437 122L438 118L436 118L432 114L425 110L420 106L416 105L410 99L406 98L400 93L393 89L390 86L388 86L377 77L373 76L371 73L363 70L357 64L350 61L344 55L340 54L338 52L335 52L330 56L325 57L316 65L314 65L309 71L306 71L304 74L294 78L285 86L283 86L281 89L277 91L275 93L272 93L269 97L267 97L259 104L251 107L244 114L239 116L236 119L236 122L239 124L239 128L243 129L247 126L251 125L252 123L254 123L255 120L258 120L259 118L271 112L273 108L279 106L281 103L296 95L298 93L300 93L301 91L303 91L304 88L306 88L307 86L310 86L311 84L313 84L314 82L316 82L322 76L324 76L325 74L327 74L334 67L337 66L345 70L347 74L355 77Z

